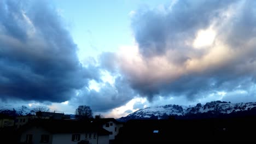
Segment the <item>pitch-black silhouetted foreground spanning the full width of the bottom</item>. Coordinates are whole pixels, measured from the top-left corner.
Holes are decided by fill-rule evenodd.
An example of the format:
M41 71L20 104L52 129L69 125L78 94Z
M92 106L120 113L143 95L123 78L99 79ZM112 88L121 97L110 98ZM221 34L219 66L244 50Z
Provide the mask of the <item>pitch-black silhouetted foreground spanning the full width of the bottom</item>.
M34 120L35 121L31 121L18 129L15 127L1 128L0 142L19 143L22 139L27 139L27 135L30 135L27 130L34 131L34 128L36 128L38 134L40 132L38 132L38 130L41 129L43 129L41 131L44 131L42 134L45 135L45 131L48 133L49 137L43 137L43 139L42 134L40 134L41 137L39 137L39 139L48 141L48 143L58 143L51 141L56 134L60 136L65 134L63 139L67 138L67 140L64 142L63 139L60 139L64 143L84 142L86 138L88 138L87 141L91 140L94 141L93 143L100 143L100 136L106 137L106 142L110 144L194 142L256 143L256 116L211 119L174 119L174 117L160 120L134 119L124 123L124 126L120 127L120 129L115 128L117 126L114 126L115 119L113 118L94 119L92 121L65 119ZM110 134L109 131L111 131L110 128L112 127L114 128L114 132ZM117 136L114 136L115 131L119 132ZM33 139L36 139L36 133L33 132L31 134L34 135ZM73 136L78 134L78 137ZM91 134L91 136L88 134ZM36 141L39 142L39 139Z

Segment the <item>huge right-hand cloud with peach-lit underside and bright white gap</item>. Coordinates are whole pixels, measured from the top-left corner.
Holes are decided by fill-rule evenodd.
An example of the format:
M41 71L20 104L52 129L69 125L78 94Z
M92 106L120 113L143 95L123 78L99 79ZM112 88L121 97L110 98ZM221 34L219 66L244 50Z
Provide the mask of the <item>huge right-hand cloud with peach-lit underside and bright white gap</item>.
M137 44L117 54L121 74L150 101L159 95L193 101L232 93L237 86L248 89L256 74L255 5L178 1L171 9L137 10L132 17Z

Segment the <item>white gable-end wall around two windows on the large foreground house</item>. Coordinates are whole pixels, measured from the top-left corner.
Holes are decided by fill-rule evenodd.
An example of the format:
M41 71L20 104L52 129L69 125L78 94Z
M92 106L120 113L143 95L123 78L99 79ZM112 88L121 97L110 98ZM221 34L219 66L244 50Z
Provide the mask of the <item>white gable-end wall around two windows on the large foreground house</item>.
M36 128L32 127L26 131L24 131L21 134L20 142L26 142L26 136L27 135L33 135L32 136L32 143L33 144L39 144L41 140L41 135L49 135L49 144L51 144L51 141L53 140L53 136L48 131L44 130L43 128Z

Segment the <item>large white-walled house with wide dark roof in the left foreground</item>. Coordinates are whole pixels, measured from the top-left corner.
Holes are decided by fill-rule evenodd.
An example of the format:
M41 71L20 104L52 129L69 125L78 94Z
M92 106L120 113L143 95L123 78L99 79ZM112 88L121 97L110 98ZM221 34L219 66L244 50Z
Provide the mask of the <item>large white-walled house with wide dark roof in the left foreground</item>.
M34 119L20 129L19 142L108 144L109 131L91 122Z

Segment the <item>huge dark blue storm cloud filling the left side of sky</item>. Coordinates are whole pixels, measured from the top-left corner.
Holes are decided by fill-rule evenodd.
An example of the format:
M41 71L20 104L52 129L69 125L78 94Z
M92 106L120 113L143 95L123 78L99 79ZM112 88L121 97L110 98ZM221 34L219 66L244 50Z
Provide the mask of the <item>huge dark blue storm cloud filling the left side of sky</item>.
M0 2L0 98L62 102L98 80L79 63L71 35L45 1Z

